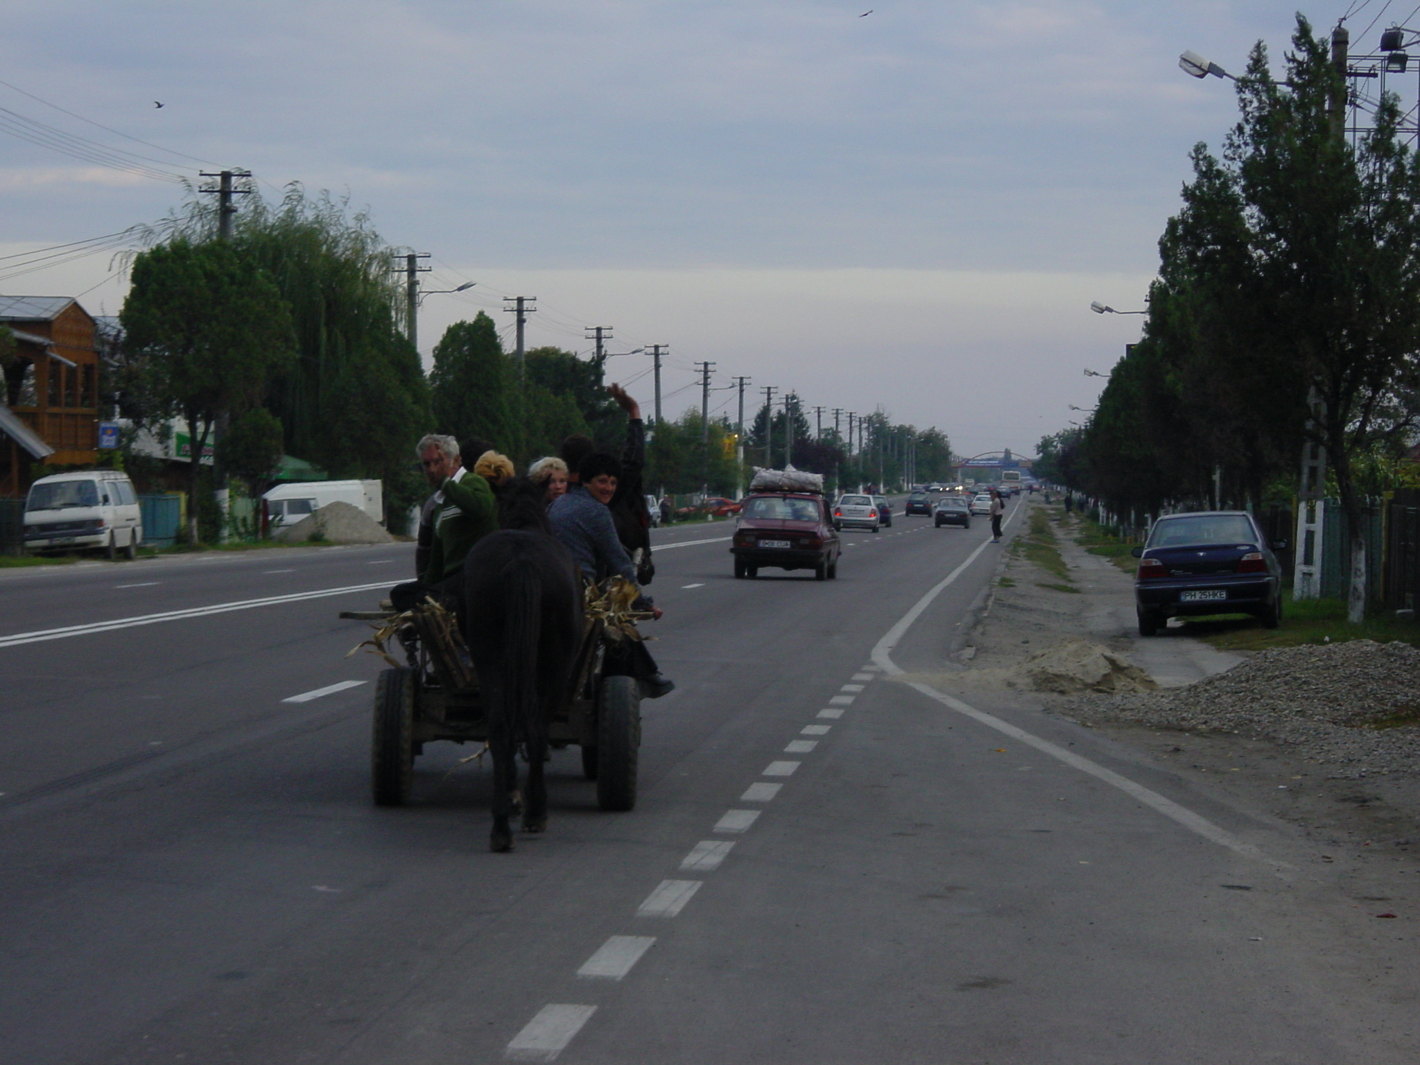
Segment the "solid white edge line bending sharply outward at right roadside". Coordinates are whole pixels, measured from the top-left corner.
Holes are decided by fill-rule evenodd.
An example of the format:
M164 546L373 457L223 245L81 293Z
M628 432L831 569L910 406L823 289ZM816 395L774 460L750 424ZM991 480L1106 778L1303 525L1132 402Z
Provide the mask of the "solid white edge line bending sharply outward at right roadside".
M1017 514L1012 514L1011 517L1014 518L1015 515ZM951 585L963 572L966 572L966 568L971 565L977 559L977 557L988 547L991 547L990 540L981 541L977 550L973 551L970 555L967 555L966 561L963 561L961 565L958 565L956 569L953 569L950 574L941 578L941 581L934 588L927 591L926 595L923 595L913 605L913 608L907 611L907 613L905 613L897 621L896 625L893 625L890 629L888 629L886 633L883 633L883 638L878 640L878 645L873 648L873 662L876 662L878 666L885 673L889 673L892 676L900 676L902 673L906 672L892 660L893 648L896 648L897 643L902 640L902 638L907 633L907 629L912 628L912 623L922 616L923 611L926 611L927 606L932 605L932 601L936 599L943 591L946 591L947 586ZM954 699L953 696L949 696L944 692L939 692L930 684L909 682L907 686L916 689L929 699L934 699L943 706L956 710L960 714L964 714L976 721L980 721L988 728L994 728L995 731L1003 733L1004 736L1010 736L1012 740L1018 740L1030 747L1034 747L1042 754L1048 754L1052 758L1058 758L1059 761L1065 763L1066 765L1075 767L1081 772L1086 772L1091 777L1103 781L1105 784L1110 784L1112 787L1119 788L1126 795L1137 799L1139 802L1143 802L1146 807L1150 807L1159 814L1163 814L1166 818L1172 818L1184 828L1197 832L1204 839L1211 839L1214 843L1225 846L1230 851L1235 851L1237 853L1244 855L1247 858L1255 858L1258 861L1271 862L1272 865L1287 866L1285 862L1278 862L1275 859L1267 858L1261 851L1258 851L1258 848L1252 846L1252 843L1238 839L1225 828L1214 825L1207 818L1194 814L1191 809L1187 809L1186 807L1180 807L1177 802L1174 802L1170 798L1164 798L1157 791L1146 788L1142 784L1136 784L1135 781L1115 772L1113 770L1106 770L1099 763L1091 761L1089 758L1075 754L1074 751L1065 750L1064 747L1054 744L1049 740L1044 740L1039 736L1028 733L1024 728L1017 728L1010 721L1003 721L1000 717L995 717L994 714L977 710L974 706L967 706L960 699Z

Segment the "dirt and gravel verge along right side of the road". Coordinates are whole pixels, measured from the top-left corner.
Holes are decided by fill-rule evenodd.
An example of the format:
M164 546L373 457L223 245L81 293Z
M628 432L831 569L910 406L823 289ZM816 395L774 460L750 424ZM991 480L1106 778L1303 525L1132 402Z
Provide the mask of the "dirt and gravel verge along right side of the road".
M1049 513L1078 591L1059 591L1058 572L1008 552L964 646L929 683L966 701L973 692L1018 692L1024 703L1099 728L1238 807L1296 825L1318 863L1345 868L1343 888L1358 899L1420 895L1420 652L1338 645L1250 660L1177 630L1139 638L1132 578L1075 544L1059 507L1024 506ZM1116 694L1129 687L1115 684L1133 677L1120 666L1074 694L1032 676L1032 655L1081 662L1089 657L1081 643L1099 660L1143 669L1163 690ZM1289 676L1302 682L1291 694Z

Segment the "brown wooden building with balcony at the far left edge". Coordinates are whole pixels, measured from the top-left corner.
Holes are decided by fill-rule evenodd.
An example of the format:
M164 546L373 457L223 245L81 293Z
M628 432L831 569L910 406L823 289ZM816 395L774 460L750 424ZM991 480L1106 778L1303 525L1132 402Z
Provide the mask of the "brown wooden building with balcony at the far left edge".
M98 345L92 315L67 295L0 295L0 324L13 335L3 358L0 496L16 497L33 480L31 463L98 462Z

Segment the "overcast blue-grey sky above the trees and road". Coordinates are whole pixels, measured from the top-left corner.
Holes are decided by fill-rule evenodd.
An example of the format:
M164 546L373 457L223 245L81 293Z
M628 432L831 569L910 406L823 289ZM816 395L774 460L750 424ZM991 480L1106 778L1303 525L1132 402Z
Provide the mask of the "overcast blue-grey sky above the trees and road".
M1325 31L1348 3L1305 14ZM1416 20L1411 3L1355 6L1353 51ZM18 139L18 115L169 175L240 166L268 197L291 180L348 195L388 241L432 253L427 288L479 283L427 297L426 356L449 322L486 308L510 329L501 297L535 295L530 345L585 351L586 325L612 327L613 351L669 344L667 415L699 405L692 365L709 359L717 388L748 375L809 408L936 425L961 454L1034 453L1093 405L1083 369L1139 334L1089 302L1143 307L1187 153L1234 121L1230 85L1186 77L1179 53L1241 71L1261 38L1279 65L1295 10L11 0L0 254L182 200ZM126 278L109 271L102 253L9 277L0 260L0 291L87 290L116 314ZM649 368L612 361L645 375L648 412Z

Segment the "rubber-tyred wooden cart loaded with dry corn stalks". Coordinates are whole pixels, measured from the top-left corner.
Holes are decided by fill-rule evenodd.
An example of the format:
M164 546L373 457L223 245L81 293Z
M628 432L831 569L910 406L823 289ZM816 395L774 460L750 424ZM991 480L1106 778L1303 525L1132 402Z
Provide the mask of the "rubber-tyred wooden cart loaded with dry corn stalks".
M611 595L588 599L581 648L567 694L548 723L548 743L579 746L582 772L596 781L598 805L625 811L636 805L640 687L616 672L623 656L615 645L639 638L625 611L609 606ZM362 645L390 663L375 684L371 787L378 805L400 807L409 801L415 758L425 744L488 740L477 677L453 615L437 604L406 613L344 611L341 618L382 622ZM405 665L390 655L390 639Z

